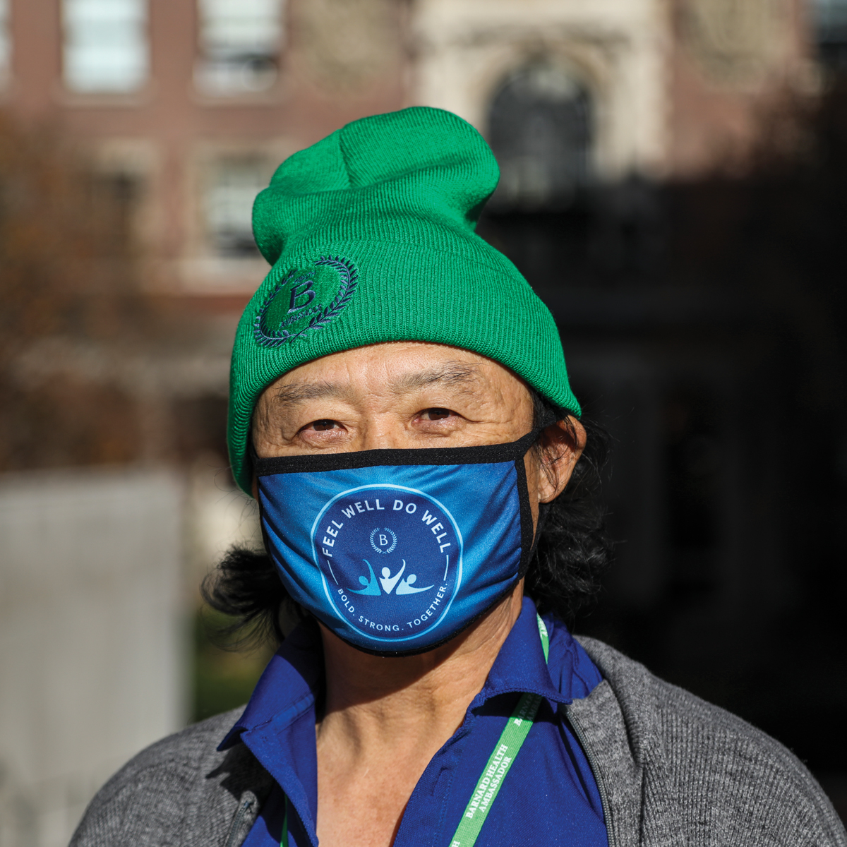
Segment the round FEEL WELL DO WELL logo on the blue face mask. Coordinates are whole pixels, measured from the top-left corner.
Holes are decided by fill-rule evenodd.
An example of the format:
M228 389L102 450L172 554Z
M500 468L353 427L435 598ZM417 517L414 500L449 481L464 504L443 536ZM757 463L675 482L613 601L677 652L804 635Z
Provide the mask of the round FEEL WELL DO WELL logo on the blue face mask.
M333 497L314 523L312 547L339 617L398 647L438 626L462 582L462 534L451 513L399 485Z

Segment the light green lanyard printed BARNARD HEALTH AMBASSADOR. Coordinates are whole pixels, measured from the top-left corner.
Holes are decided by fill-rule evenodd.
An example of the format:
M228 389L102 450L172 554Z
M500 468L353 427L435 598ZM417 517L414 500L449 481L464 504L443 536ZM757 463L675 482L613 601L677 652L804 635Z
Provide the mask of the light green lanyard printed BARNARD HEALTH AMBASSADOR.
M538 632L541 636L541 646L544 649L544 659L550 654L550 636L544 621L538 617ZM485 766L476 788L473 789L471 799L462 814L462 820L456 829L450 847L473 847L479 832L485 822L485 817L491 805L494 803L497 792L500 791L503 780L518 756L518 750L532 729L538 707L541 705L542 697L539 694L523 694L518 700L518 706L509 717L506 728L502 731L500 739L494 745L494 752L490 755L488 764ZM285 798L285 818L282 822L282 841L280 847L288 847L288 798Z

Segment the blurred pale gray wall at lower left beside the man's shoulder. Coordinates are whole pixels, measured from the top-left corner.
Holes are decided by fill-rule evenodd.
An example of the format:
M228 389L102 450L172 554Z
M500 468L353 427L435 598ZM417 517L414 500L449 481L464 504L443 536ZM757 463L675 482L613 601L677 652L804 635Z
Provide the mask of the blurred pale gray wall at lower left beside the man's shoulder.
M184 725L182 504L165 471L0 477L0 847L67 844Z

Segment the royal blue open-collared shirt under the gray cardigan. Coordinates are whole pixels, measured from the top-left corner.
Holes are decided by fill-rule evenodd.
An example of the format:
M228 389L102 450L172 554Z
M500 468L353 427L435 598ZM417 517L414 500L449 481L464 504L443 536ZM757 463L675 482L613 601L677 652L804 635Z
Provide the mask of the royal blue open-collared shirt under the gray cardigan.
M562 623L545 617L550 661L528 598L468 706L462 726L433 756L412 791L394 847L446 847L509 715L524 692L544 697L538 717L488 812L478 847L568 844L608 847L594 774L557 706L590 694L600 672ZM317 847L318 763L315 698L323 684L317 629L301 625L268 663L244 714L220 745L239 736L274 777L268 800L244 847L277 847L285 795L290 847ZM504 841L505 837L505 841Z

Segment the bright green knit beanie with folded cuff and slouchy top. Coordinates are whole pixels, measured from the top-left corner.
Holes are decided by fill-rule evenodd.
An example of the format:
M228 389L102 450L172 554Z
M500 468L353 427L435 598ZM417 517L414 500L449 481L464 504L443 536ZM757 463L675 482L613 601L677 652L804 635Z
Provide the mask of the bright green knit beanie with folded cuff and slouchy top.
M280 165L253 207L273 267L232 352L228 437L243 490L264 388L297 365L379 341L481 353L579 415L551 313L473 231L499 177L471 125L422 107L354 121Z

